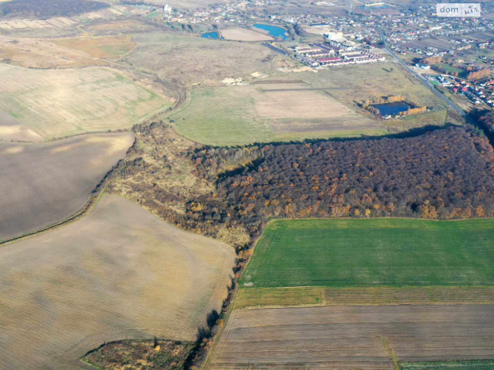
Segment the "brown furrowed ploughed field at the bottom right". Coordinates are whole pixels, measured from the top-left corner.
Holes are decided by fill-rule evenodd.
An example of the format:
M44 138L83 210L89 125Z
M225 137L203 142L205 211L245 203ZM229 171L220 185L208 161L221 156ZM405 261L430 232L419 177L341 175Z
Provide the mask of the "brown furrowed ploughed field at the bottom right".
M493 305L243 309L207 369L393 370L389 350L400 361L491 359L493 340Z

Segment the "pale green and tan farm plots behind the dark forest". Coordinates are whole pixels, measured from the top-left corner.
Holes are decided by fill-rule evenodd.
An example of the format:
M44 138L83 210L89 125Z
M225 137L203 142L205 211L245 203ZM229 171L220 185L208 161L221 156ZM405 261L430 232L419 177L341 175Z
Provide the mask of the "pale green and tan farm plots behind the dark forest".
M182 135L210 145L387 132L306 84L197 89L169 118Z

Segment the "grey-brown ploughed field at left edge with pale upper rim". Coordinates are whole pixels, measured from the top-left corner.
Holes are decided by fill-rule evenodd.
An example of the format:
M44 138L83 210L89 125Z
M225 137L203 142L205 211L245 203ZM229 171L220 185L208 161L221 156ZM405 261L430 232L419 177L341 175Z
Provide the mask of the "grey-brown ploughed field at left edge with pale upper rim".
M0 241L79 211L134 136L91 134L49 143L0 143Z

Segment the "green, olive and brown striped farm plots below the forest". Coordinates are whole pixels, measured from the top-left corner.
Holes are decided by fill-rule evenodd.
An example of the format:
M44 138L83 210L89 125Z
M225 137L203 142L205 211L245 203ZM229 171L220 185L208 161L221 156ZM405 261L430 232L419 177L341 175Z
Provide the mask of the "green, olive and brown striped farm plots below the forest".
M270 222L207 369L491 369L493 237L490 219Z

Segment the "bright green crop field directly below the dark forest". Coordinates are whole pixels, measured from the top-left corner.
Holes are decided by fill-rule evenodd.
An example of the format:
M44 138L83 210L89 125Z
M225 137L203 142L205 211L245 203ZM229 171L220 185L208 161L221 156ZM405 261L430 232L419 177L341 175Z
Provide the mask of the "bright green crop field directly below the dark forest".
M268 224L244 287L492 286L491 219L279 220Z

